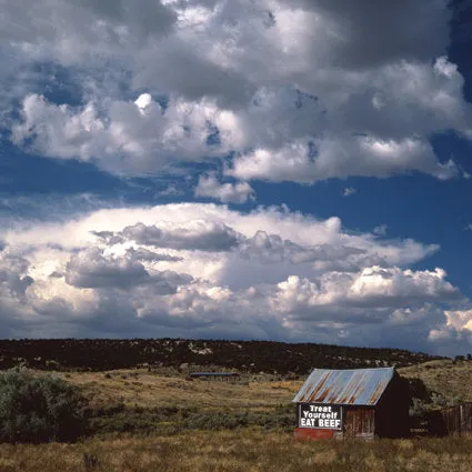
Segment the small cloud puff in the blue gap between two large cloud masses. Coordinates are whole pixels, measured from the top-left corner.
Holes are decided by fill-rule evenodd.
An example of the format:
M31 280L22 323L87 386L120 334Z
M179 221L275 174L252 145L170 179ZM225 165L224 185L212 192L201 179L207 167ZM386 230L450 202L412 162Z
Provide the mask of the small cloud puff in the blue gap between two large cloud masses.
M220 183L214 175L201 175L195 197L210 197L222 203L245 203L254 200L254 190L248 182Z

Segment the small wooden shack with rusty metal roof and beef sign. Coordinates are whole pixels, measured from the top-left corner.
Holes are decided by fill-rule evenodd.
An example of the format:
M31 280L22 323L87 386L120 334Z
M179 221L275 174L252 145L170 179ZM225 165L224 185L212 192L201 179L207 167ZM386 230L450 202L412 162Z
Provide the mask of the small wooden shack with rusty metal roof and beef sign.
M314 369L293 399L295 438L404 438L409 390L393 368Z

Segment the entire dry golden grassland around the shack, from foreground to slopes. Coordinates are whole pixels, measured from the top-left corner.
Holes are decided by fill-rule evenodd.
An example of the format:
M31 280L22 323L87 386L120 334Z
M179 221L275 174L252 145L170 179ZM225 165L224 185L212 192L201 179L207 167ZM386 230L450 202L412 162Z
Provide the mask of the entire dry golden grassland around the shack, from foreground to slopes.
M445 395L472 400L470 362L432 361L401 369L400 373L420 378L430 389ZM113 429L118 416L99 418L112 428L99 428L99 433L74 444L0 444L0 472L472 472L472 439L468 438L294 441L291 431L294 414L290 402L303 380L243 375L240 382L227 383L189 380L178 371L150 372L145 369L53 374L80 386L92 409L124 408L120 413L121 430ZM264 428L262 420L278 414L278 408L279 413L285 415L285 426L278 428L275 422ZM177 413L165 418L159 409L175 410ZM182 423L190 421L187 416L182 420L185 409L193 409L194 416L207 415L207 420L221 414L227 415L224 421L228 418L239 420L231 428L225 428L223 422L209 431L213 424L209 428L207 420L202 426L192 416L189 416L192 424ZM139 418L135 416L138 410L141 411ZM158 410L159 414L155 413ZM240 423L240 414L252 415L250 418L259 419L259 423ZM183 426L141 430L141 424L149 426L159 421L168 426L172 426L173 421L181 421ZM129 424L134 424L134 433L123 432L128 431Z

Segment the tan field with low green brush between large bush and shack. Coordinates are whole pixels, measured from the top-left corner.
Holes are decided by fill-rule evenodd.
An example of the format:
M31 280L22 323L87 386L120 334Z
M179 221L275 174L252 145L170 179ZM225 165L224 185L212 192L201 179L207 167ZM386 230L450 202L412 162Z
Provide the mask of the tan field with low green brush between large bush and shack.
M80 388L90 409L88 434L100 436L253 425L288 431L294 422L291 400L302 384L265 374L242 375L235 383L191 380L179 371L147 369L52 374Z

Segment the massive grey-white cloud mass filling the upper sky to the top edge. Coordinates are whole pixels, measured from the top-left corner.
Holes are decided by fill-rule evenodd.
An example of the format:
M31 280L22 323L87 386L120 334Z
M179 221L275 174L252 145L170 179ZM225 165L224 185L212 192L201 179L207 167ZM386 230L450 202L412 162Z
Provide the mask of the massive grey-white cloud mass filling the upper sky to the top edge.
M443 130L472 135L463 78L444 56L446 1L329 3L8 4L6 57L84 77L76 106L18 92L13 142L127 175L229 155L225 173L244 182L456 175L430 144ZM109 76L125 97L107 94ZM242 201L244 182L203 179L199 191Z

